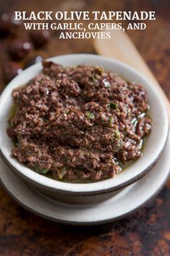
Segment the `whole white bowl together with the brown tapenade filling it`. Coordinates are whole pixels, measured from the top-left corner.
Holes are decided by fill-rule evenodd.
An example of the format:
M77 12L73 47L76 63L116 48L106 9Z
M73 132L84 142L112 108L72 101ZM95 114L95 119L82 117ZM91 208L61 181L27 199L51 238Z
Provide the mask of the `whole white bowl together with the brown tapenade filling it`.
M54 57L1 94L1 155L51 197L106 194L156 163L168 120L157 88L132 67L93 54Z

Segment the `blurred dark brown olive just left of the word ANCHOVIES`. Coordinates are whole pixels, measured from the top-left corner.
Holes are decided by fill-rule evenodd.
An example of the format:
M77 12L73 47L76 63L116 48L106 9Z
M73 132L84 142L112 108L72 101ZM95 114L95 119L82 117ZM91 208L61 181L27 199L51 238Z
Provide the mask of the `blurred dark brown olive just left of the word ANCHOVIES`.
M48 30L32 30L30 31L30 40L35 48L41 48L50 40L50 33Z

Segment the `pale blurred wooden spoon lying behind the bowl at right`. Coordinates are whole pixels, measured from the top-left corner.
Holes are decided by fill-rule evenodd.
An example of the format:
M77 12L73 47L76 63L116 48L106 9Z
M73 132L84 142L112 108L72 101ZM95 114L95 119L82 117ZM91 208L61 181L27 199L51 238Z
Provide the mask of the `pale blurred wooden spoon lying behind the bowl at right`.
M94 46L98 54L105 57L113 57L114 59L118 59L139 70L140 73L143 73L143 75L145 75L150 82L158 88L158 91L166 103L170 120L169 100L166 98L163 89L158 84L156 78L154 78L150 69L146 65L143 57L141 57L139 51L137 51L129 36L127 36L127 33L123 33L121 30L115 30L114 35L111 36L111 39L95 39Z

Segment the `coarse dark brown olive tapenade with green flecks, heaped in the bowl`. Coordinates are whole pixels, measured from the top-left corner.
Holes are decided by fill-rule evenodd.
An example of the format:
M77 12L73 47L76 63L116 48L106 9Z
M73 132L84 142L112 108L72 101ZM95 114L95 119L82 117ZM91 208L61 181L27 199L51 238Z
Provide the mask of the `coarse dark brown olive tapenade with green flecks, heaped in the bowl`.
M143 86L102 67L44 61L42 73L12 96L12 157L63 181L115 176L140 157L151 130Z

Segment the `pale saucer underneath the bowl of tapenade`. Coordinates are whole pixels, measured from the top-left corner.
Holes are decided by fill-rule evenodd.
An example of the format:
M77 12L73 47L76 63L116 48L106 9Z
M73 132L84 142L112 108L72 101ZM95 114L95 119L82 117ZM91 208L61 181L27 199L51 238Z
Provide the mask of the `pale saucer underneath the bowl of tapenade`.
M170 136L160 160L150 172L119 194L104 202L89 205L69 205L30 189L0 159L1 183L22 207L48 220L74 225L95 225L118 220L145 205L156 196L169 176Z

